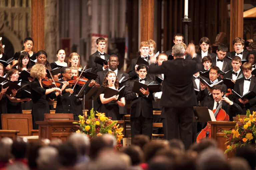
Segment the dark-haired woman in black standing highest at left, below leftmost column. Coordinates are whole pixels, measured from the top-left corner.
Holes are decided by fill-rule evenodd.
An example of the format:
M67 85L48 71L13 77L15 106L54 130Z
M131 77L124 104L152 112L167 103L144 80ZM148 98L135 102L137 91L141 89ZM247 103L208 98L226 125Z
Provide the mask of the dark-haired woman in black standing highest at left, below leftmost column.
M32 48L33 48L33 45L34 45L34 41L31 37L27 37L25 38L24 40L24 50L23 51L26 51L28 52L29 56L30 56L30 59L31 60L35 60L36 59L36 53L32 51ZM18 59L20 57L20 53L23 52L23 51L19 51L19 52L16 52L13 56L13 58L15 59L13 62L12 62L12 65L14 66L16 63L18 63Z

